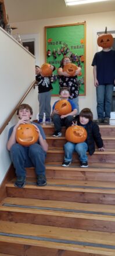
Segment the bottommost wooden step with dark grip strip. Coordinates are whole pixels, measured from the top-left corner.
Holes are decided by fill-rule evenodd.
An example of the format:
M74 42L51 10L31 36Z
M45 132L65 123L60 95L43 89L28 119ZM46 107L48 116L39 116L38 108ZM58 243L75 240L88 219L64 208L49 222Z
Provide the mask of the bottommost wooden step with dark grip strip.
M114 241L114 233L0 221L0 253L114 256Z

